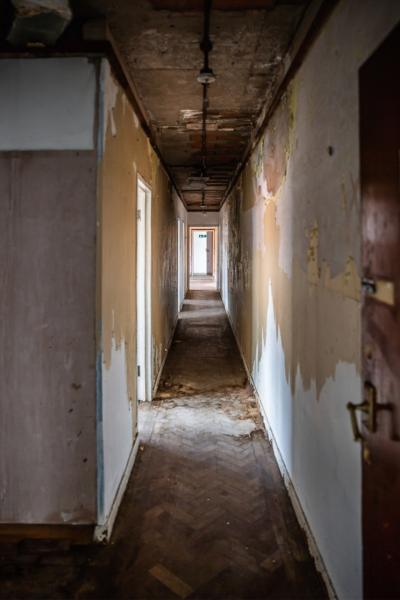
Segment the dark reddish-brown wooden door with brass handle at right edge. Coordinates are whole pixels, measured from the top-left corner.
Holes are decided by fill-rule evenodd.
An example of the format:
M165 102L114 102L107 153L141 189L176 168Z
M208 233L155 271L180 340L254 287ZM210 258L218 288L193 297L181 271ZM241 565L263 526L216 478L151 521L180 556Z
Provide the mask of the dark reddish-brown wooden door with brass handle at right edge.
M364 595L400 598L399 27L360 70L360 141Z

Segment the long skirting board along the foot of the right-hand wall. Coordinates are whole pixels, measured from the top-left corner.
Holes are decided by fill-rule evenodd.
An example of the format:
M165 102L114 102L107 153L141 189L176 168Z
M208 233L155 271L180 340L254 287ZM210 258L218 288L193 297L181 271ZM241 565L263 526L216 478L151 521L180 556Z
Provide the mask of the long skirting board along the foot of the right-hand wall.
M250 385L251 385L251 387L253 389L254 396L255 396L255 398L257 400L257 404L258 404L258 407L260 409L261 416L263 418L264 427L265 427L265 430L267 432L268 439L271 442L272 450L273 450L276 462L278 464L279 470L281 472L281 475L282 475L282 478L283 478L283 482L284 482L285 487L286 487L286 489L288 491L289 498L290 498L290 501L292 503L293 510L294 510L294 512L296 514L297 521L299 522L300 527L304 530L304 532L306 534L307 543L308 543L308 548L310 550L310 554L311 554L311 556L313 557L313 559L315 561L315 566L316 566L317 570L319 571L319 573L321 574L322 579L324 580L324 583L325 583L325 586L326 586L329 598L331 600L337 600L338 596L337 596L337 594L335 592L335 588L333 586L332 580L331 580L331 578L329 576L328 570L327 570L327 568L325 566L324 560L323 560L323 558L321 556L321 553L319 551L317 542L315 541L314 534L313 534L313 532L311 530L310 524L308 523L307 517L304 514L303 507L301 506L301 502L300 502L299 497L298 497L298 495L296 493L296 490L295 490L295 487L294 487L293 482L291 480L291 477L289 475L289 472L288 472L288 470L286 468L286 465L285 465L285 462L283 460L282 454L281 454L281 452L279 450L279 446L276 443L276 439L275 439L274 433L273 433L273 431L271 429L271 426L270 426L269 421L268 421L268 417L267 417L266 412L264 410L264 407L263 407L263 405L261 403L260 397L259 397L258 392L257 392L257 388L256 388L255 383L253 381L253 377L251 376L251 373L250 373L250 371L249 371L249 369L247 367L247 364L246 364L246 361L244 359L244 355L243 355L243 352L242 352L242 348L241 348L241 346L239 344L239 340L238 340L238 338L236 336L236 332L235 332L235 329L233 327L233 323L232 323L230 314L226 310L225 304L224 304L224 308L225 308L226 315L228 317L229 324L231 326L231 330L232 330L233 336L234 336L234 338L236 340L236 345L238 347L240 356L242 358L243 366L245 368L248 380L249 380Z

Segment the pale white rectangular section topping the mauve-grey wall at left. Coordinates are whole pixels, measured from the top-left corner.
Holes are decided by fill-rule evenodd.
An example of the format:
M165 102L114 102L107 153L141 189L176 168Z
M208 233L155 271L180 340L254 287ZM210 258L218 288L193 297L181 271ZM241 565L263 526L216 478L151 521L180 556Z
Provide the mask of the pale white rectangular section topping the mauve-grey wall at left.
M0 150L92 150L95 98L87 58L0 60Z

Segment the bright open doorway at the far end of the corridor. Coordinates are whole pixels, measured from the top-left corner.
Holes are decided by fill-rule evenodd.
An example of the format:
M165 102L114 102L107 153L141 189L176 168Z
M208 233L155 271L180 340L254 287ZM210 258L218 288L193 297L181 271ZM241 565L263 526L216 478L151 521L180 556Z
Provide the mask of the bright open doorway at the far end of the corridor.
M190 227L189 264L189 289L217 289L218 227Z

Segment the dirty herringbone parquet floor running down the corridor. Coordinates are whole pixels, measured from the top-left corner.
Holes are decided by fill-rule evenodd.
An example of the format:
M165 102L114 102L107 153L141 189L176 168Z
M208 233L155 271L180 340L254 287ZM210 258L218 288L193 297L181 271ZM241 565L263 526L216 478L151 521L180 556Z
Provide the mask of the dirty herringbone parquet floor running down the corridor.
M0 544L0 597L326 598L217 292L185 300L111 544Z

